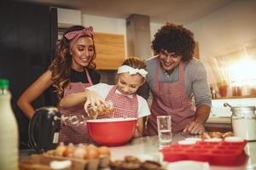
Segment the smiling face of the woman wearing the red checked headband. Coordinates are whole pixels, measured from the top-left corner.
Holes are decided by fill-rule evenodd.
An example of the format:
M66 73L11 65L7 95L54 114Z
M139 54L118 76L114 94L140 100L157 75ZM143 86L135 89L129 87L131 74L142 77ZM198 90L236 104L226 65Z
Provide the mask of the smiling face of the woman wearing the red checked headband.
M71 48L72 68L76 71L83 71L84 67L90 63L94 56L93 41L91 37L79 37L73 42Z

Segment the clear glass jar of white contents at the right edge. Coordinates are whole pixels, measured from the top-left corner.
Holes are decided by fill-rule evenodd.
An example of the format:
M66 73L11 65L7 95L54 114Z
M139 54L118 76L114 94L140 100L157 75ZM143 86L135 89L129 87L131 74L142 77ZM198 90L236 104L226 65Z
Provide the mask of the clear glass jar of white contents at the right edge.
M232 128L235 136L256 140L256 115L254 106L232 107Z

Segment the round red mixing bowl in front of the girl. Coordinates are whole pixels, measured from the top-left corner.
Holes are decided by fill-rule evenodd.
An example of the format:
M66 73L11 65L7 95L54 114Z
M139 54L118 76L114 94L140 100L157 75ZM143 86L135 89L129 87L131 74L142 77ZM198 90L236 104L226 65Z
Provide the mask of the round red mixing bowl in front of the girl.
M126 144L136 130L137 118L106 118L88 120L90 137L98 144L118 146Z

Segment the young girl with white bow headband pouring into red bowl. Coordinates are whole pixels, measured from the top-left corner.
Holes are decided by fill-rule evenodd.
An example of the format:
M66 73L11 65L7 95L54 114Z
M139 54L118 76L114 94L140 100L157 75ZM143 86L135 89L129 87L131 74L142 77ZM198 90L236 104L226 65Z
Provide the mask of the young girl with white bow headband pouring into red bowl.
M105 105L105 101L113 101L114 113L100 115L97 118L106 117L137 117L137 132L135 137L143 133L143 116L150 115L148 103L137 95L137 89L145 82L148 72L143 60L131 57L125 59L123 65L118 69L118 82L116 85L99 83L86 88L86 102L88 105Z

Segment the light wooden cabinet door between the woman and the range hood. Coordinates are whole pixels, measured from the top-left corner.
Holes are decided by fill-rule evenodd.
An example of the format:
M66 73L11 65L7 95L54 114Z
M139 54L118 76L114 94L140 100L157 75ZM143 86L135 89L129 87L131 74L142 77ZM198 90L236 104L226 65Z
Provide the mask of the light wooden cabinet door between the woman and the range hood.
M94 33L96 46L96 69L117 70L125 60L123 35Z

